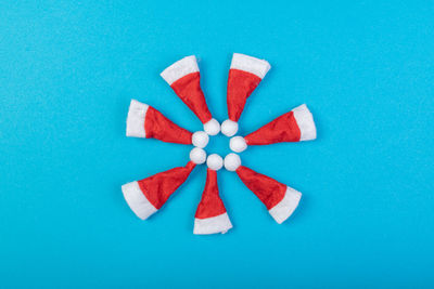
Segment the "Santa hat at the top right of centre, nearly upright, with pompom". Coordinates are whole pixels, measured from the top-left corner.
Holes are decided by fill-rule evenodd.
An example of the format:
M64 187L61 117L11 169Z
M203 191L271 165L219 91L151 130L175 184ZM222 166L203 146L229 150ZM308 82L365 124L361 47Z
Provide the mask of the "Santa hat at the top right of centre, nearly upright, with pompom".
M244 109L245 102L271 68L267 61L240 53L233 53L228 78L228 115L229 119L221 123L221 132L232 136L238 131L238 120Z

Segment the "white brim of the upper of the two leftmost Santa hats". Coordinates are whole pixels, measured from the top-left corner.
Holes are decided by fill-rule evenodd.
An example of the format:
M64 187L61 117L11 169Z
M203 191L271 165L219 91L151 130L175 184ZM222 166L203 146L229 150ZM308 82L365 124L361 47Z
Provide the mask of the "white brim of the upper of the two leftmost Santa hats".
M146 137L144 118L149 105L131 100L127 117L127 136Z

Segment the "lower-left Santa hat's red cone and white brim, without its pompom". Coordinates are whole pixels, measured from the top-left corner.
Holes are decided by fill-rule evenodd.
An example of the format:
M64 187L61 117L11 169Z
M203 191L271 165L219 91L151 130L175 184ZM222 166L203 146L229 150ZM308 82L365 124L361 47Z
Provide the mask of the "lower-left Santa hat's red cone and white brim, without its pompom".
M141 181L122 186L124 198L131 210L142 220L148 219L163 207L175 191L186 182L195 163L159 172Z

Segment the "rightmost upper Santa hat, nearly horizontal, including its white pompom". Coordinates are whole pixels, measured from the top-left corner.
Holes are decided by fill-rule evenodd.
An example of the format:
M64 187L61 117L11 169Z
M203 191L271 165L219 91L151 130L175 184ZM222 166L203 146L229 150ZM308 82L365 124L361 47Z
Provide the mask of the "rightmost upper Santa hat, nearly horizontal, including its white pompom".
M247 148L247 145L310 141L316 137L314 117L303 104L244 137L232 137L229 145L233 152L241 153Z

